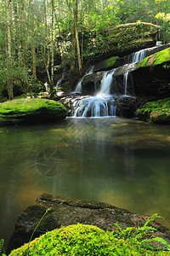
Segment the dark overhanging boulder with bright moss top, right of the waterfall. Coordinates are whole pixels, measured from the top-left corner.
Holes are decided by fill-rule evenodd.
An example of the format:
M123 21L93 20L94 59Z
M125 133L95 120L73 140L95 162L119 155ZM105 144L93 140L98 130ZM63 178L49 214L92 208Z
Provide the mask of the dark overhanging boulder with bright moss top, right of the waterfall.
M140 61L132 75L135 96L170 96L170 47Z

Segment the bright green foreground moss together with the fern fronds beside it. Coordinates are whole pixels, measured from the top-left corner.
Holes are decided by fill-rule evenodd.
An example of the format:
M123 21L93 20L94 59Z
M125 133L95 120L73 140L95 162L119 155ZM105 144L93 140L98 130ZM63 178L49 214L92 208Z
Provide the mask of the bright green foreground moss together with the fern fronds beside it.
M141 228L129 227L123 230L118 224L112 232L100 230L97 226L74 224L47 232L9 255L168 255L170 245L167 241L149 236L156 229L149 226L157 214L148 218ZM152 243L161 243L167 251L158 249Z

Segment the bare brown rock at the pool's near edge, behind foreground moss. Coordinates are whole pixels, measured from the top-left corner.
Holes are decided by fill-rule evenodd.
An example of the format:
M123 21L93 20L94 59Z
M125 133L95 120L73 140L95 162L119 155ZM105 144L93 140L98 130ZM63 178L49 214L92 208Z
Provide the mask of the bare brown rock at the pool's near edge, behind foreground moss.
M27 207L20 214L15 224L14 234L8 244L8 252L30 240L33 230L36 229L39 220L48 208L50 211L38 225L34 238L46 231L71 224L93 224L102 230L112 230L116 223L125 229L129 226L143 226L147 219L137 213L103 202L43 194L33 206ZM153 222L151 226L156 228L156 236L170 240L170 230L166 227L156 222Z

